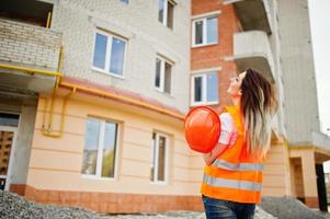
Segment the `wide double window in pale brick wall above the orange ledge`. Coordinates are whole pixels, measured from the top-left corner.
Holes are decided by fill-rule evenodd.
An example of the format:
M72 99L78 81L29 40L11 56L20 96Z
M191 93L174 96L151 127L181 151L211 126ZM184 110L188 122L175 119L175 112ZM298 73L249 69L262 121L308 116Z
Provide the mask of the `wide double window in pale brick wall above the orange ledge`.
M100 30L96 31L93 69L123 76L126 41Z

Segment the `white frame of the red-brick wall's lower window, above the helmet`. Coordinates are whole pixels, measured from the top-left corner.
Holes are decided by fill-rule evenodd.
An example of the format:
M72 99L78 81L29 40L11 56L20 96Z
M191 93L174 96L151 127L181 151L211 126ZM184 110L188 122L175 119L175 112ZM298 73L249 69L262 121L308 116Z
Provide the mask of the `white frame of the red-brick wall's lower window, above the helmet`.
M191 106L216 105L219 103L219 95L218 95L217 101L207 101L207 74L210 74L210 73L217 73L217 71L195 73L191 77L191 94L192 94L191 95ZM195 78L202 78L202 101L201 102L195 102ZM218 76L217 76L217 78L218 78ZM218 85L218 90L219 90L219 85Z

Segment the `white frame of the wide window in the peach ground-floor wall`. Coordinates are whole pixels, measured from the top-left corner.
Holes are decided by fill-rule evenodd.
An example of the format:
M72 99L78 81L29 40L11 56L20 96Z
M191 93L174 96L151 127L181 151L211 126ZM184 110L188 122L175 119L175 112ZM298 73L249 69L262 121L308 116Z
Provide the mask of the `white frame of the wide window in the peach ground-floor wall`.
M91 180L105 180L105 181L114 181L117 177L117 169L118 169L118 139L120 139L120 123L113 122L113 120L105 120L105 119L99 119L94 117L88 117L88 119L96 120L100 123L100 132L99 132L99 146L98 146L98 158L96 158L96 170L95 174L81 174L84 178L91 178ZM117 124L117 136L116 136L116 151L115 151L115 166L114 166L114 174L113 177L106 177L102 176L102 158L103 158L103 143L104 143L104 130L105 130L105 123L115 123ZM87 135L87 134L84 134ZM84 149L84 148L83 148ZM101 152L100 152L101 151ZM83 152L82 152L83 153ZM83 158L82 158L83 159ZM82 162L81 162L82 163Z

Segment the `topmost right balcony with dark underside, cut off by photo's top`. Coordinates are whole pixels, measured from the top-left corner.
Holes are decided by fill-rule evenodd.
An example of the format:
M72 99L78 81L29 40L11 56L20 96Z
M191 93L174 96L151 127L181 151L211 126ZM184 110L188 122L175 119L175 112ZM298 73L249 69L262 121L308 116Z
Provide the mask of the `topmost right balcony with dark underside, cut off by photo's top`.
M234 4L243 31L264 31L272 33L269 0L224 0Z

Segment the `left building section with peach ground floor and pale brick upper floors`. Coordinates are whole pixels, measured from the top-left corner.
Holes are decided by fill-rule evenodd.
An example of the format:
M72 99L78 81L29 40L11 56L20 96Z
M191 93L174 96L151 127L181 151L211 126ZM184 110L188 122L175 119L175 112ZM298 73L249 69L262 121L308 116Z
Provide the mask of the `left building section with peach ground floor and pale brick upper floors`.
M101 212L201 205L190 1L4 1L1 16L5 189Z

